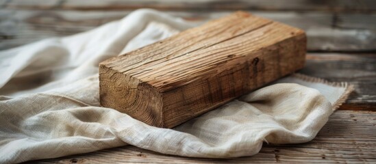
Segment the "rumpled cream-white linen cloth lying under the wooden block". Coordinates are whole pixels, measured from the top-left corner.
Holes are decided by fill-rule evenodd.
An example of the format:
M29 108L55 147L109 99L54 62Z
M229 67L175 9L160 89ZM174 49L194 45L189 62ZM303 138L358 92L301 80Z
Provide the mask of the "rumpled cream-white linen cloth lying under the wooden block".
M127 143L180 156L250 156L263 141L310 141L351 90L293 75L173 129L100 107L100 61L192 26L162 12L137 10L91 31L0 51L0 163Z

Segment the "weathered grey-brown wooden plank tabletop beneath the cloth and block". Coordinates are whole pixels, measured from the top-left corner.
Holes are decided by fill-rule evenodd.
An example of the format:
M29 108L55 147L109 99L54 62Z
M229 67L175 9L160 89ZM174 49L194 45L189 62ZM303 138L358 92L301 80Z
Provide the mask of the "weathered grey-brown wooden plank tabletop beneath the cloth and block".
M376 163L376 1L0 0L0 49L93 29L137 8L155 8L187 20L247 10L300 27L308 34L308 63L299 72L347 81L355 92L314 140L265 143L255 156L195 159L123 146L32 163Z

